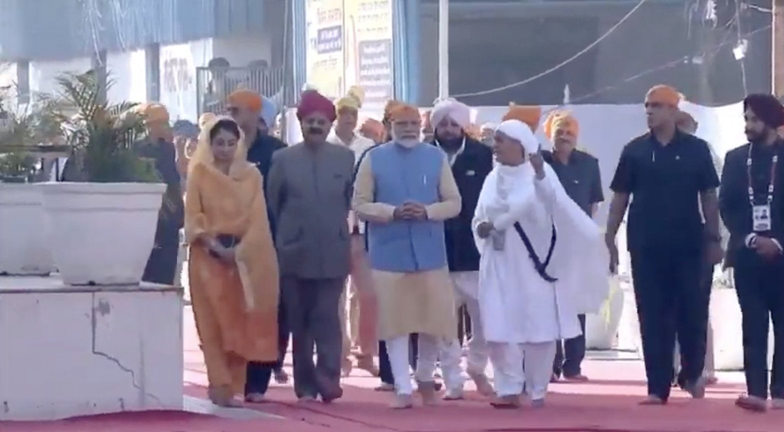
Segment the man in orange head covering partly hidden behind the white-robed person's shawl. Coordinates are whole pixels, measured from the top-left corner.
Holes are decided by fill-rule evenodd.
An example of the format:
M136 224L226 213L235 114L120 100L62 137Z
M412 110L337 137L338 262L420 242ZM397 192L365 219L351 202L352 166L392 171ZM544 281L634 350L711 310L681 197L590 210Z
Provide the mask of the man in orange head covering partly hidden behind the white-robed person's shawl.
M564 186L566 194L591 218L599 203L604 201L601 191L599 160L577 149L579 124L571 113L556 110L544 122L544 133L553 142L553 152L542 152L544 160ZM584 382L580 365L586 355L586 315L579 314L580 334L568 340L556 341L552 380Z

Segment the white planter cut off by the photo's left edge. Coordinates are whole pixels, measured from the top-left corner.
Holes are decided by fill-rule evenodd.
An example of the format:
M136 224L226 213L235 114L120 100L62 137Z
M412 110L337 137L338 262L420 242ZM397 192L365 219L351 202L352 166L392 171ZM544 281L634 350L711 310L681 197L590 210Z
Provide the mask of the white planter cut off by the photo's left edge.
M0 184L0 275L53 272L41 200L37 185Z

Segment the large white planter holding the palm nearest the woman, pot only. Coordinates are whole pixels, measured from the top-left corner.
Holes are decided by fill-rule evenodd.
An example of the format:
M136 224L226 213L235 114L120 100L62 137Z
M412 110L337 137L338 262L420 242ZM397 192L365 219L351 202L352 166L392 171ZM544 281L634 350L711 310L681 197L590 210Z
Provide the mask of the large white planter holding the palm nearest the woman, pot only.
M136 285L166 186L42 183L54 261L68 285Z

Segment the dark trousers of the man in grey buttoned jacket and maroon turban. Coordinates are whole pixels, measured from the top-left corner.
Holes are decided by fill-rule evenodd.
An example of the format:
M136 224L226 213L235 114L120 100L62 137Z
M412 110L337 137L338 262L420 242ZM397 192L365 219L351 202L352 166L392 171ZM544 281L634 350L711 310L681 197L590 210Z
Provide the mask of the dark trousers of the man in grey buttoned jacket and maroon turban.
M343 357L343 329L338 313L345 279L281 278L281 293L292 331L294 392L316 398L320 383L338 386ZM314 365L313 351L318 361Z

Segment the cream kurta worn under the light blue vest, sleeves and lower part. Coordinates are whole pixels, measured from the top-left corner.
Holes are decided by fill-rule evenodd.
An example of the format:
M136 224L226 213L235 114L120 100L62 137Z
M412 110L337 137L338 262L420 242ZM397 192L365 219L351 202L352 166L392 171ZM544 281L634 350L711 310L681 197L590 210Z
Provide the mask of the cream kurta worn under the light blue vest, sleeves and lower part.
M365 157L357 172L354 211L362 220L386 223L394 218L394 206L374 202L376 184L371 159ZM460 193L446 158L438 193L441 200L426 206L427 217L431 221L444 221L459 214ZM378 299L379 339L408 333L425 333L448 340L457 337L455 299L446 263L443 268L427 272L372 270L372 277Z

